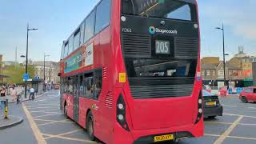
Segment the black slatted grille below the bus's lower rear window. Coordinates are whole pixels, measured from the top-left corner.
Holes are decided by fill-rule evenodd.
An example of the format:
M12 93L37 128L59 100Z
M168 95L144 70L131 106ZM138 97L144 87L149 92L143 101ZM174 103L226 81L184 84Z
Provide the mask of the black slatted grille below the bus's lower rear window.
M130 91L135 99L140 98L168 98L186 97L192 94L194 85L155 85L155 86L130 86Z

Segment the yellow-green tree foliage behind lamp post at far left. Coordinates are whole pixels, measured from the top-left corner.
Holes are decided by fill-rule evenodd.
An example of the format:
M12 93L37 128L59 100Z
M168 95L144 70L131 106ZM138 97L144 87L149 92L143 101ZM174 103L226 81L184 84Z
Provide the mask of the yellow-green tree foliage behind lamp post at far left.
M3 71L3 74L10 77L10 78L5 78L6 83L21 84L23 83L23 74L25 74L25 66L19 66L19 65L6 66ZM34 78L34 66L28 66L28 74L30 74L30 78Z

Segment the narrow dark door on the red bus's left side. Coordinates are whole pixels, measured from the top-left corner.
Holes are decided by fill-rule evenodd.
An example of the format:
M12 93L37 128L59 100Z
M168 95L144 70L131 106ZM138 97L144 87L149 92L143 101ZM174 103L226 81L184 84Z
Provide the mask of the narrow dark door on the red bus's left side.
M80 78L78 75L74 76L74 121L79 121L79 87Z

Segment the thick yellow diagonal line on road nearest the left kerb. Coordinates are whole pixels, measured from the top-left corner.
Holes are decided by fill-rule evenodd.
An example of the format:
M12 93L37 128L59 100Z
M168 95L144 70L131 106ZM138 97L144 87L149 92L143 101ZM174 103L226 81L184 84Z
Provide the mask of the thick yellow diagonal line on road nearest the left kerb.
M34 120L33 120L32 116L31 116L29 110L26 109L26 106L24 105L24 103L22 103L22 108L25 111L26 118L30 122L30 127L33 130L35 138L38 140L38 143L39 144L46 144L46 140L42 137L42 133L38 129L38 126L34 122Z

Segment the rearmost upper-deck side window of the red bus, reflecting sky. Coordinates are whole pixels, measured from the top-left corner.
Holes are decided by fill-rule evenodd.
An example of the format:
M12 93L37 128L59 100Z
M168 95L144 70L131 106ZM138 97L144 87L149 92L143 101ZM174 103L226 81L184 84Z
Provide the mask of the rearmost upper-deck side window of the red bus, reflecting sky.
M97 6L95 34L103 30L106 26L109 26L110 5L110 0L102 0L102 2Z

